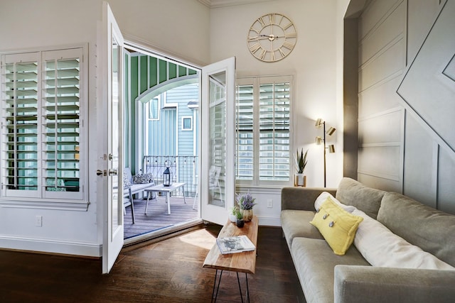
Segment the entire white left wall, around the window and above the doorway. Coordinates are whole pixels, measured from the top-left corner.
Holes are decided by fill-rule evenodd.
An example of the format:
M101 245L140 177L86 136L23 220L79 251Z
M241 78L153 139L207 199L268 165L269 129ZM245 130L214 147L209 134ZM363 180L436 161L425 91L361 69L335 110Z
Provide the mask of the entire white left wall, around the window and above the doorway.
M181 55L181 59L196 64L208 62L210 16L203 4L196 0L109 2L127 38L159 45L170 55ZM87 211L5 206L0 201L0 248L100 255L103 207L96 200L95 170L100 151L95 131L95 55L97 23L101 19L101 0L0 2L0 52L88 43L90 133ZM36 216L43 216L42 227L35 226Z

